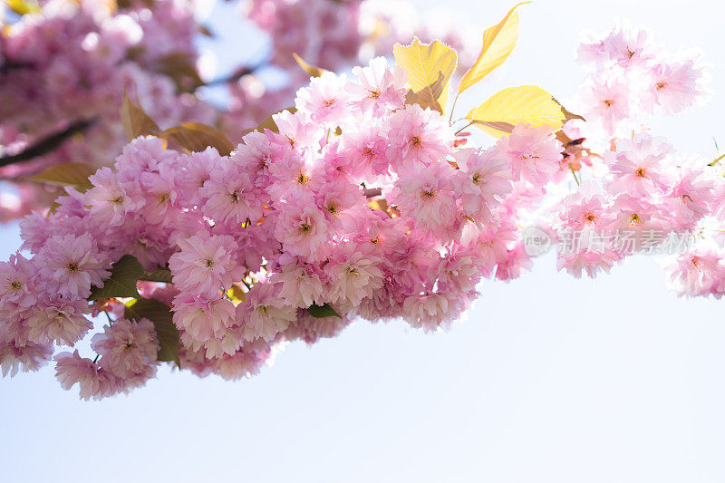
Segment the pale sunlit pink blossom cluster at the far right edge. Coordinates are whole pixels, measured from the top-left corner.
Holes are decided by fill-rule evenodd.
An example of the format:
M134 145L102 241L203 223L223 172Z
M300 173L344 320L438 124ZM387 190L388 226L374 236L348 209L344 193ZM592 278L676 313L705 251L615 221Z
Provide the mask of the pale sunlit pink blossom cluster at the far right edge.
M720 167L675 152L647 128L653 113L680 112L706 95L699 54L672 57L649 31L622 24L582 43L579 59L595 71L578 100L586 122L565 126L587 149L567 158L583 182L553 210L567 246L559 269L594 276L626 256L667 253L676 293L725 294Z

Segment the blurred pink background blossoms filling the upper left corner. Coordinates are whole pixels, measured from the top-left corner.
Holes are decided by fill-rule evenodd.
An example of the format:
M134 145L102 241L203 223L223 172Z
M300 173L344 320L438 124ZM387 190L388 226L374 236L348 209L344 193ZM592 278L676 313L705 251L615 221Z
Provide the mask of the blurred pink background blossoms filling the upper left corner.
M193 67L198 32L191 0L143 2L111 14L110 3L43 2L37 14L5 24L0 36L0 154L23 151L78 121L82 136L22 163L0 166L1 179L35 174L60 162L110 165L126 142L119 106L123 94L140 101L162 126L213 120L215 110L179 92L172 63ZM170 40L173 39L173 40ZM4 189L9 187L5 186ZM0 221L50 204L49 193L20 183L0 198Z

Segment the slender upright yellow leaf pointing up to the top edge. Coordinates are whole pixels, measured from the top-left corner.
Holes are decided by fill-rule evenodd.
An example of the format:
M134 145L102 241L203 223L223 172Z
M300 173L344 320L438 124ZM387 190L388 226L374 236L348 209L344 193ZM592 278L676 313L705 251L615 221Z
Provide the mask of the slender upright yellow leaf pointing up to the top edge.
M518 14L515 12L519 5L529 4L521 2L508 11L498 24L488 27L483 33L483 46L478 60L463 75L459 83L459 93L480 81L504 63L508 55L516 47L518 40Z

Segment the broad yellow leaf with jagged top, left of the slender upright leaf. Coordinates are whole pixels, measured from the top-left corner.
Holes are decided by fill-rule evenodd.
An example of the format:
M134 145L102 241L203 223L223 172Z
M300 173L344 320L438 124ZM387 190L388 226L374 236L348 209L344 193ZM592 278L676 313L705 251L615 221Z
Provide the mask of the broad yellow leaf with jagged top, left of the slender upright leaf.
M392 53L395 55L395 62L408 72L408 84L413 92L420 94L427 91L425 96L435 100L439 100L441 94L446 92L446 86L458 62L456 51L439 41L420 43L416 37L410 45L396 43ZM435 95L433 87L439 82L440 92Z

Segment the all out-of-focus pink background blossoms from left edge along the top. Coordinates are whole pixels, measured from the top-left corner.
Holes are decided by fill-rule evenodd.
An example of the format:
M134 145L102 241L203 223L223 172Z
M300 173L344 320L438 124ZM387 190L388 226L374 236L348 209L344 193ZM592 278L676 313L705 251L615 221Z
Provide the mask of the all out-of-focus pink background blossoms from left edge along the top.
M114 2L96 0L43 0L37 14L17 20L0 14L0 26L5 27L0 35L0 157L88 123L51 152L7 166L0 163L0 179L13 181L0 184L0 222L42 209L59 193L18 179L67 161L111 165L126 141L118 109L124 91L162 128L180 121L213 123L224 114L218 121L238 140L270 112L288 107L296 89L308 81L292 53L343 70L359 58L390 52L392 43L407 42L414 33L422 38L442 35L453 46L465 45L461 53L478 48L478 38L471 42L471 30L449 25L442 32L432 31L427 25L433 23L402 22L402 17L410 19L415 13L403 2L391 9L390 3L372 0L254 0L247 4L247 16L270 35L274 55L269 63L285 70L289 82L267 91L259 78L246 75L229 85L229 104L217 111L188 78L195 75L198 62L194 39L200 24L195 11L204 3L133 0L116 8ZM389 27L373 28L386 21ZM397 28L403 24L415 28ZM469 60L459 60L468 65L470 54Z

